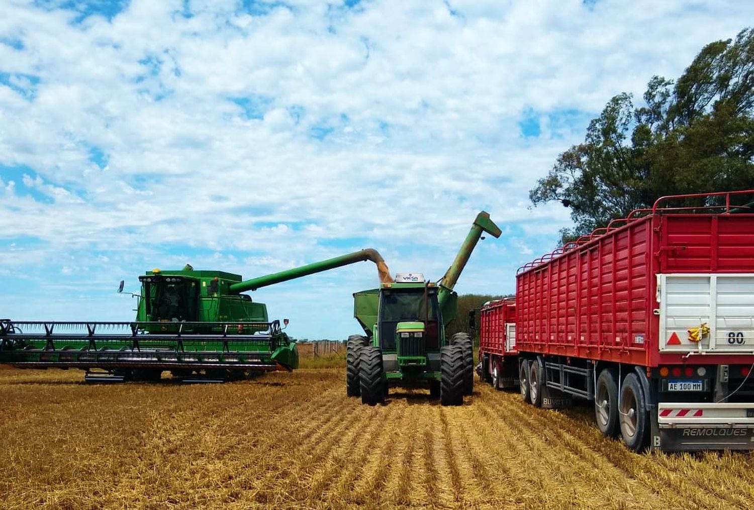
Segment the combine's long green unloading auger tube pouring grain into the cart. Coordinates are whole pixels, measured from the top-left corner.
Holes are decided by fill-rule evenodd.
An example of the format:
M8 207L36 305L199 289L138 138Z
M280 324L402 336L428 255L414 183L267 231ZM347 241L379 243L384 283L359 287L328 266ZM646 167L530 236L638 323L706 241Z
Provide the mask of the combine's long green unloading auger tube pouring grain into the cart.
M232 284L228 290L231 293L253 291L261 289L262 287L274 285L275 283L287 282L290 279L296 279L309 274L320 273L322 271L362 261L372 261L375 263L381 283L393 282L393 278L390 276L390 270L388 269L388 264L385 264L385 259L382 258L382 255L380 255L375 249L367 248L358 252L348 253L348 255L328 258L327 260L314 262L305 266L294 267L293 269L280 271L278 273L247 279L243 282Z

